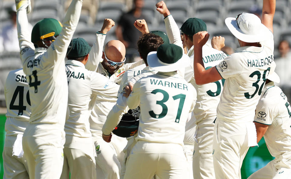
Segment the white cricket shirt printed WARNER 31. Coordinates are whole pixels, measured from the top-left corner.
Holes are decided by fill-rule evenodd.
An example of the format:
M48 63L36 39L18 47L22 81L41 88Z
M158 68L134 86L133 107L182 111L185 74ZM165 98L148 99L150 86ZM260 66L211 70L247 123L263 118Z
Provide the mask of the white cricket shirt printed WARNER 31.
M140 105L137 140L183 145L185 125L196 101L195 88L176 72L158 72L139 79L127 98Z

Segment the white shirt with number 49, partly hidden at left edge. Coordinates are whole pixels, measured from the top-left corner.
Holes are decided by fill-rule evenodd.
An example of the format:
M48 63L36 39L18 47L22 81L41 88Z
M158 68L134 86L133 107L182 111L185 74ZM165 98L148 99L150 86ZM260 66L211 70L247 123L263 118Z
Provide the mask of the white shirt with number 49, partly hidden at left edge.
M10 71L4 86L6 136L23 134L31 114L28 82L22 68Z

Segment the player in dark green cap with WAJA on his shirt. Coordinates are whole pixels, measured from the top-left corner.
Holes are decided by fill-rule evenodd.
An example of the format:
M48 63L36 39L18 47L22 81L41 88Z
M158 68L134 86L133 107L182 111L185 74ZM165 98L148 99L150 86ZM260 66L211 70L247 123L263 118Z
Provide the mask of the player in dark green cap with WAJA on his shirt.
M85 64L91 47L83 38L72 40L68 51L66 74L70 117L65 122L66 142L61 178L96 178L95 147L90 132L89 116L97 94L111 96L119 85L105 76L88 71ZM113 91L113 92L112 92Z

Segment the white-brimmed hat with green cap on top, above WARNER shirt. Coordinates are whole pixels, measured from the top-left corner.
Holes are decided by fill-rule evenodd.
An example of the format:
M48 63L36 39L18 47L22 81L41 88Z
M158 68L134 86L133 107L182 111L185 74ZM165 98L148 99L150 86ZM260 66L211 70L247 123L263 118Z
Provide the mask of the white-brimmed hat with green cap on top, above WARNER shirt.
M157 51L149 52L148 65L157 71L170 72L185 68L190 64L190 58L183 53L178 45L163 44Z

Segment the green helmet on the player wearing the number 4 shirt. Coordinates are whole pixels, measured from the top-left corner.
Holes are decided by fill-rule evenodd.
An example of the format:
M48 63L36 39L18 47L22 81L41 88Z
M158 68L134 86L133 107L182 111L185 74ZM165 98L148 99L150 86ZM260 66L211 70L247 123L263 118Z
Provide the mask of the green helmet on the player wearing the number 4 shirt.
M31 41L36 43L44 38L57 36L62 30L62 23L54 18L44 18L37 22L31 32Z

